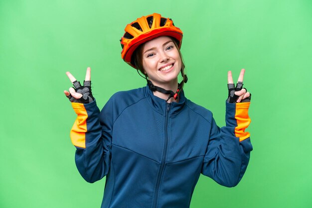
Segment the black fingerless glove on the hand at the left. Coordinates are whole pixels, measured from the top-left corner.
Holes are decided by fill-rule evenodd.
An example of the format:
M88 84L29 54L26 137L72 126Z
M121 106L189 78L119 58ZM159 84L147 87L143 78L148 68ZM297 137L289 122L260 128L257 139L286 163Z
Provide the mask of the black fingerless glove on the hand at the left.
M95 99L92 96L91 92L91 81L84 81L83 86L80 85L80 82L77 80L73 82L76 93L82 94L80 99L75 99L71 95L66 96L72 103L88 104L94 101Z

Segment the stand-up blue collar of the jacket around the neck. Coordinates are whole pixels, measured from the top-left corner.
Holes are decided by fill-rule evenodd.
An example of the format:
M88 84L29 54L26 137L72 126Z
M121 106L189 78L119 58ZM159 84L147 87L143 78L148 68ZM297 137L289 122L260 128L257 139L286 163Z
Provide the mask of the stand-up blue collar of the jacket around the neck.
M166 112L166 101L158 98L153 94L153 92L150 90L148 86L144 87L144 92L146 94L148 102L151 104L153 109L158 111L161 114L165 114ZM179 111L184 107L187 99L184 96L184 91L180 92L180 98L179 98L179 103L172 102L170 104L170 111L169 114L177 114Z

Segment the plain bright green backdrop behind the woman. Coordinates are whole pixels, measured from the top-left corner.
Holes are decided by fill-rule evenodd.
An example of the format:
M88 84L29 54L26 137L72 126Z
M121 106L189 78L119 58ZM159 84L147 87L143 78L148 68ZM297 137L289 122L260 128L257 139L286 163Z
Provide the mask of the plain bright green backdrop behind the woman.
M69 138L63 90L91 67L100 108L146 85L121 59L126 24L158 12L184 32L188 99L223 126L227 71L246 69L254 150L240 184L201 176L191 208L312 207L311 0L0 0L0 207L98 208ZM187 128L186 128L187 129Z

